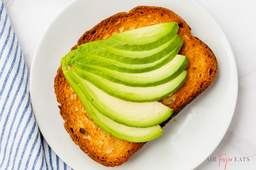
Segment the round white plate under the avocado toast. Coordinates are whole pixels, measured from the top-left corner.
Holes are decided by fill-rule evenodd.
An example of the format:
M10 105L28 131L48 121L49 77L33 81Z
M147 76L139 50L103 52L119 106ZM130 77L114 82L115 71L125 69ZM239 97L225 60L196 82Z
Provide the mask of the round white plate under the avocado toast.
M54 93L62 56L101 20L138 5L168 8L186 20L192 34L205 41L218 59L211 86L182 110L128 162L116 169L194 169L218 146L234 114L238 80L233 52L219 25L194 0L75 0L49 26L40 41L30 72L30 95L38 126L54 152L73 169L107 169L91 160L63 127Z

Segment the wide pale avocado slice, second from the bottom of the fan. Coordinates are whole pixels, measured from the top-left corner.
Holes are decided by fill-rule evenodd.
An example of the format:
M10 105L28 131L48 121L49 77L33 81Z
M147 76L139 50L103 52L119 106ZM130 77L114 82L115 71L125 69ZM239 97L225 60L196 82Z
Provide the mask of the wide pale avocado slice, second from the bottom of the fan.
M149 127L164 122L172 114L171 108L158 101L131 102L115 98L80 78L71 69L68 75L76 83L75 88L80 88L95 108L115 122L132 127Z

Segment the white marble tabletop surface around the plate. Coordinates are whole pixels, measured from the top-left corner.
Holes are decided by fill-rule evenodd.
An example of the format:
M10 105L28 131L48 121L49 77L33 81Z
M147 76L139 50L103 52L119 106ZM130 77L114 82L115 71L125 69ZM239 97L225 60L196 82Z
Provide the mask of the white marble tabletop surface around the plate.
M72 0L3 0L30 70L43 33ZM238 70L238 99L233 120L217 149L196 170L256 169L255 0L196 0L219 23L233 49ZM218 124L216 124L218 126ZM221 155L221 156L219 156ZM186 161L184 162L186 163Z

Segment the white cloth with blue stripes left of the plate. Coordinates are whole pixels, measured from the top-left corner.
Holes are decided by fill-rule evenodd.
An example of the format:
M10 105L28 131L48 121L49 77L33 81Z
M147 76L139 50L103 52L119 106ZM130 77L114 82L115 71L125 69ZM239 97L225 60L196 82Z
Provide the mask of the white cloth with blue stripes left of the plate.
M28 69L2 1L0 5L0 170L71 169L38 129Z

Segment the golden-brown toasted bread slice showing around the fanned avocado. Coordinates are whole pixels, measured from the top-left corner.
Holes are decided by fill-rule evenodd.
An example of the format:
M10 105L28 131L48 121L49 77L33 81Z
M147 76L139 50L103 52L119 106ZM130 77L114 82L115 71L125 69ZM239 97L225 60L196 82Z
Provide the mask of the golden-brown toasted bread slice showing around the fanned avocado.
M202 93L217 74L217 60L211 49L201 40L191 35L186 22L169 9L153 6L138 6L131 11L117 13L85 32L78 40L78 45L90 41L104 40L113 34L165 22L177 22L178 34L183 37L184 44L179 54L189 58L186 68L186 82L178 91L161 102L173 108L172 116L161 123L163 127L172 117L177 115L186 105ZM88 115L67 80L61 67L54 80L57 101L60 103L60 114L64 119L64 127L70 137L83 152L103 166L120 166L126 162L144 143L131 143L112 137L103 131Z

